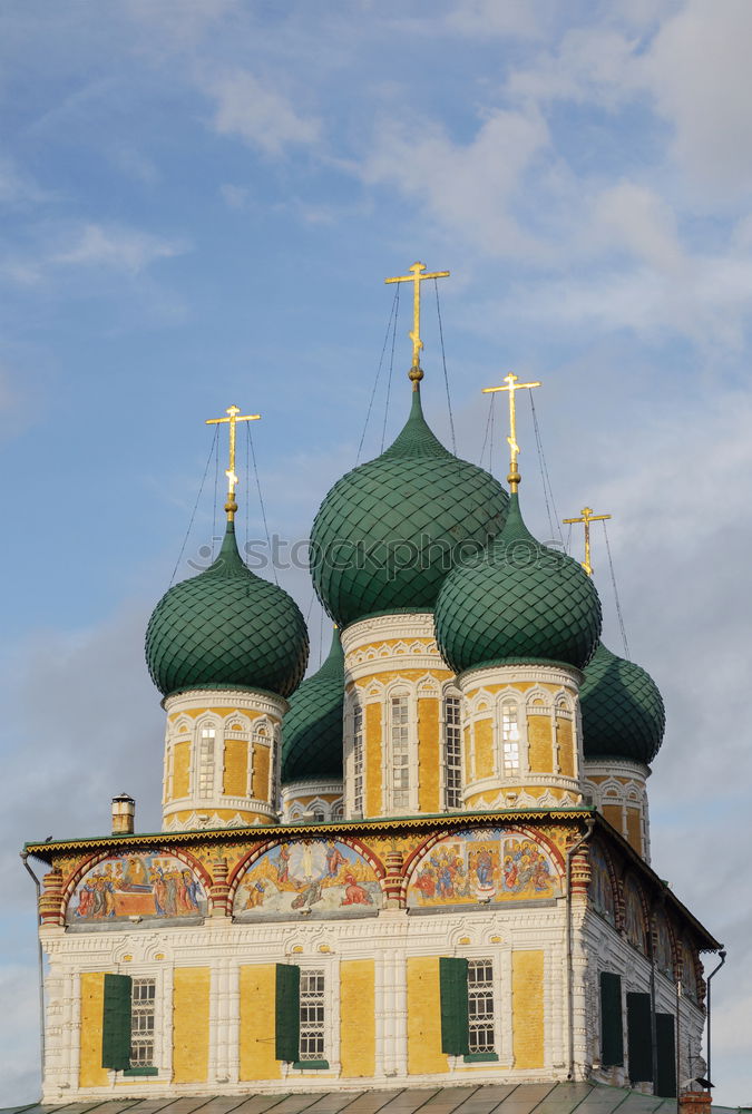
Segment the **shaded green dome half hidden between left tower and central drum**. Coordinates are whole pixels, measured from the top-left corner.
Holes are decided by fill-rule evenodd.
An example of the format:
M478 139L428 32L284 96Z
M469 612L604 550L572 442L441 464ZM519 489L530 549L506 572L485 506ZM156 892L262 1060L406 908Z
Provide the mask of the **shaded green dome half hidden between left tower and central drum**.
M304 778L342 779L343 704L344 654L335 628L329 657L292 696L282 721L283 785Z

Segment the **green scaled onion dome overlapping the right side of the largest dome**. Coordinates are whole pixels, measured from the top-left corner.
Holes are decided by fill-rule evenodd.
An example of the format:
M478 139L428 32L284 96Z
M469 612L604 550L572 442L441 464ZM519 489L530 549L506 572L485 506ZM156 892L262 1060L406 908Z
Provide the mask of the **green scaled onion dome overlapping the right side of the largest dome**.
M582 668L600 634L600 600L576 560L533 537L515 492L496 540L445 580L436 633L455 673L525 662Z

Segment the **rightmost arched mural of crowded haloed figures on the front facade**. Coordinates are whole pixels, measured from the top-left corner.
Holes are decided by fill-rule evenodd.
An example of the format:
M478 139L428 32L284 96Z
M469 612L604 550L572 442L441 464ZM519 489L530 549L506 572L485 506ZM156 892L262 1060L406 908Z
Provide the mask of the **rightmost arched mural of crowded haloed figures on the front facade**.
M412 871L408 906L541 900L561 892L549 850L508 828L469 829L434 843Z

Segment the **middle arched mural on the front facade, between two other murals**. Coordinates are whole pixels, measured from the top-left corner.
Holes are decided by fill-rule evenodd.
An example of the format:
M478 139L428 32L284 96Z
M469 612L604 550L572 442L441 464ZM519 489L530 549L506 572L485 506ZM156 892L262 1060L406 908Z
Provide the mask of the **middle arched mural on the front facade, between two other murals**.
M251 864L235 893L237 920L373 917L381 887L371 864L335 840L291 840Z

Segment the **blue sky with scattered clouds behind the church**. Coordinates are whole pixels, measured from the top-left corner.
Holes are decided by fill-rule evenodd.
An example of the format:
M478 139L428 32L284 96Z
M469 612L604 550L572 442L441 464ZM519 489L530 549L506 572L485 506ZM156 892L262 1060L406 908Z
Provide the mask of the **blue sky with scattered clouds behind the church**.
M480 456L481 387L509 370L540 379L559 516L614 516L632 655L670 717L654 864L729 946L716 1098L752 1101L751 33L746 0L2 6L0 985L27 1003L3 1035L8 1101L36 1089L17 849L105 829L123 789L139 825L158 824L143 632L191 519L204 419L231 402L263 413L270 527L304 538L355 462L391 309L382 280L414 260L451 271L460 453ZM423 397L447 439L429 294ZM364 456L409 404L407 305ZM520 416L526 517L548 537L525 403ZM211 470L186 558L211 540L213 495ZM250 509L262 537L253 487ZM594 556L618 651L602 541ZM310 582L280 579L310 614L315 665L328 636Z

